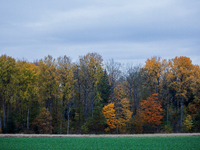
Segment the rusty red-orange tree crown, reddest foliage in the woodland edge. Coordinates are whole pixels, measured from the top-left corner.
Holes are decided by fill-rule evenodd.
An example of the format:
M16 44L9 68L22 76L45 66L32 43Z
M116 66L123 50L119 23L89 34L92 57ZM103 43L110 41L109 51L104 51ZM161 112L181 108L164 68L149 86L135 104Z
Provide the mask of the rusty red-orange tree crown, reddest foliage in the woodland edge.
M150 123L153 125L160 125L161 119L163 118L163 109L161 104L157 101L158 94L152 94L147 100L140 102L141 107L141 117L145 123Z

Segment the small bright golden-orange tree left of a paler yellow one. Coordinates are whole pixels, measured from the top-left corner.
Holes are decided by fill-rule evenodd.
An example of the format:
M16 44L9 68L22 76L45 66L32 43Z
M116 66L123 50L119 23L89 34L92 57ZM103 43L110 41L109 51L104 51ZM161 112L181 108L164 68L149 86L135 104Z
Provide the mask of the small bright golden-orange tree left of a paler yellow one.
M110 103L103 107L103 114L107 120L108 128L105 129L106 132L115 129L117 124L117 118L115 115L114 103Z

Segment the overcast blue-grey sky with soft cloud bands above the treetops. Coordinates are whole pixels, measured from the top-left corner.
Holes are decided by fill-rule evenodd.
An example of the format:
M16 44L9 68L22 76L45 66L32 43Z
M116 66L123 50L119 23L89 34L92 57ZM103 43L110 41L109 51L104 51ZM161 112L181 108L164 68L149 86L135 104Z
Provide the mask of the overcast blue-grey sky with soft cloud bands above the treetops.
M76 62L92 52L122 64L187 56L200 65L200 1L1 0L0 55Z

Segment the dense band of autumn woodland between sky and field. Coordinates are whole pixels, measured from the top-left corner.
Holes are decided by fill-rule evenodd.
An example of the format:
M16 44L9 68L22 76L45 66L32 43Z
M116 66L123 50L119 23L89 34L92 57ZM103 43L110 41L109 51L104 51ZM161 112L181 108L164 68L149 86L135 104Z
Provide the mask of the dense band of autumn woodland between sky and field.
M188 57L144 66L0 57L0 133L132 134L200 131L200 68Z

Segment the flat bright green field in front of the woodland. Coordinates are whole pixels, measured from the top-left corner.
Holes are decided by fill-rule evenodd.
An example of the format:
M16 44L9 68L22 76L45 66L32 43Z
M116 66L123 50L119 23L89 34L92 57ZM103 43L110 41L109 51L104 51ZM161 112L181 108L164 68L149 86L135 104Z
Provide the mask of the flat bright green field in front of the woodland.
M200 149L200 136L188 137L31 137L0 138L0 149Z

